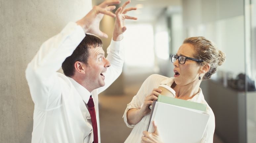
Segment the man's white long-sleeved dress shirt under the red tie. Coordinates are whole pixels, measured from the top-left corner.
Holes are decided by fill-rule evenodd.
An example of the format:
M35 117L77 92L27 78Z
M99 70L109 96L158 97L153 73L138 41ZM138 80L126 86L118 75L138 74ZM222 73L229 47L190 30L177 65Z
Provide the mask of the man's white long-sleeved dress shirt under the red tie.
M111 41L107 49L105 86L90 93L72 78L56 72L85 37L81 26L70 22L56 36L42 44L28 64L26 79L35 104L32 143L92 143L93 131L87 105L90 95L95 103L100 140L98 94L121 74L123 51L120 42Z

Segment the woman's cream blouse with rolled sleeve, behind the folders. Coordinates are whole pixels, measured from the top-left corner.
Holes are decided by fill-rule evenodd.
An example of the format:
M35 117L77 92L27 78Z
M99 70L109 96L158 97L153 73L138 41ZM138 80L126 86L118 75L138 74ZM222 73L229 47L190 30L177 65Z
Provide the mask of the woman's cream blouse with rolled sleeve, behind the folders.
M143 131L148 130L148 124L149 124L149 118L150 114L144 116L140 122L138 122L136 125L130 125L127 122L127 111L132 108L140 109L141 106L144 103L145 97L149 95L154 88L158 88L160 84L165 84L168 86L171 86L174 82L174 78L168 78L161 75L153 74L149 76L144 83L141 85L141 88L139 89L138 93L133 97L132 101L127 105L123 119L127 127L133 128L128 138L125 140L125 143L140 143L141 137L143 136ZM213 142L213 133L215 130L215 117L213 114L212 109L209 107L207 102L204 100L204 96L202 93L201 88L199 88L199 92L188 101L193 101L197 103L206 104L206 113L210 115L209 121L207 123L203 138L201 140L201 143L212 143ZM177 119L179 120L179 119ZM189 120L189 117L188 117ZM156 125L157 126L157 125ZM184 129L186 130L186 129ZM191 132L193 133L193 132ZM159 133L161 135L161 132ZM184 136L186 137L186 136Z

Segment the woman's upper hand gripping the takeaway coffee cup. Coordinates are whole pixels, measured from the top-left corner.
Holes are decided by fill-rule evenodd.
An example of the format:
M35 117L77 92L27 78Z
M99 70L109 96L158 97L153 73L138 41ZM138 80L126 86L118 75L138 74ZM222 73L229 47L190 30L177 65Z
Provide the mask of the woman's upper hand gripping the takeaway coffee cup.
M149 108L150 105L153 104L153 101L157 100L158 95L162 92L159 88L154 88L153 91L146 96L143 106L139 110L142 116L145 116L150 113L151 109Z

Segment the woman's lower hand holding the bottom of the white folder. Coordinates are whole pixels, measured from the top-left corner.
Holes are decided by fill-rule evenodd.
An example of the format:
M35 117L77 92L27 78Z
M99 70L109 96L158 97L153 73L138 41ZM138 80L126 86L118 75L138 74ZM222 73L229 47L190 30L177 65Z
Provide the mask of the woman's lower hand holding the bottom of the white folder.
M162 139L159 137L159 132L155 125L155 121L153 121L153 126L155 129L153 133L150 133L148 131L143 131L144 136L141 137L142 143L163 143Z

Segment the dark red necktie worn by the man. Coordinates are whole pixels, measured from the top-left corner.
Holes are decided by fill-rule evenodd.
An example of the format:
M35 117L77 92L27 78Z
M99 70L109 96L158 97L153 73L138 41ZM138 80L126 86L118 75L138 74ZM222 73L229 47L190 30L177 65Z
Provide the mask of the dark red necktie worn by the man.
M92 119L92 126L93 126L93 143L98 143L97 120L96 120L96 113L95 113L94 102L93 102L92 96L90 96L87 105L88 105L88 110L89 110L89 113L90 113L91 119Z

